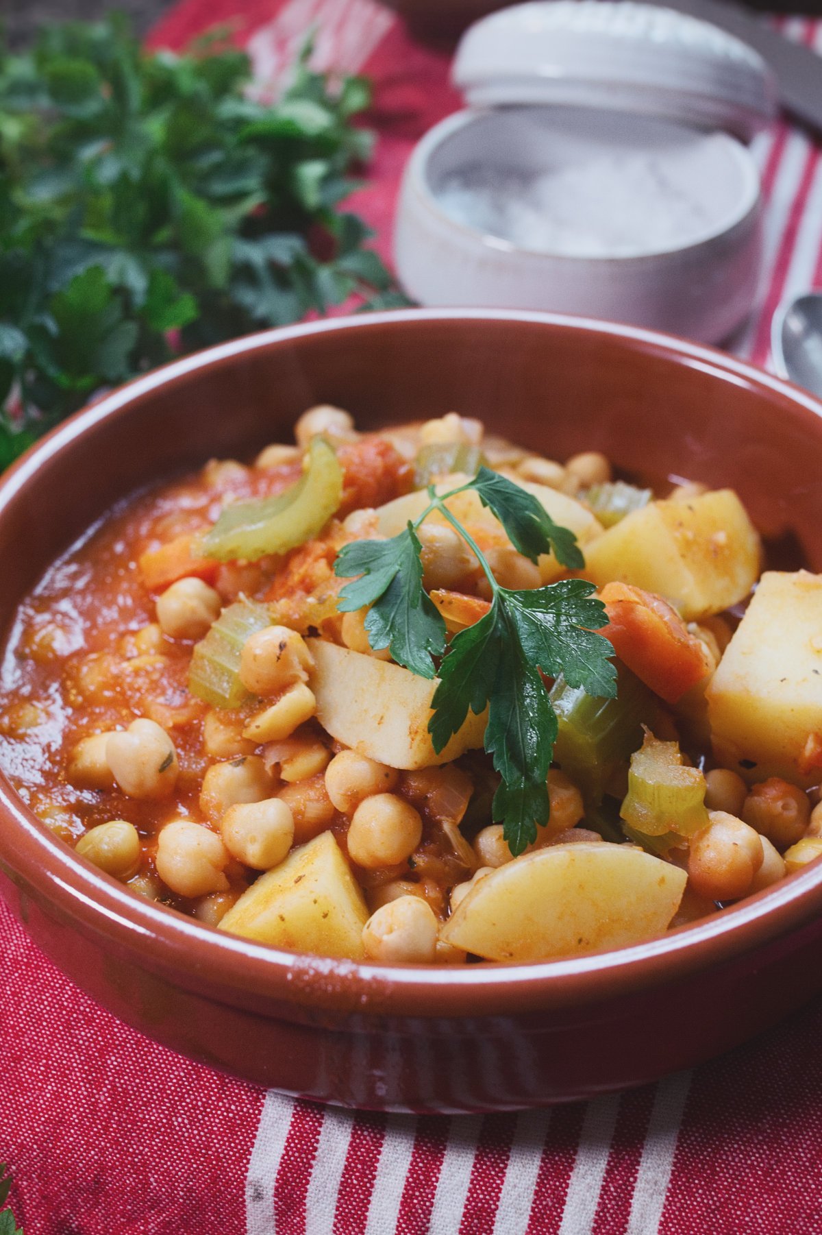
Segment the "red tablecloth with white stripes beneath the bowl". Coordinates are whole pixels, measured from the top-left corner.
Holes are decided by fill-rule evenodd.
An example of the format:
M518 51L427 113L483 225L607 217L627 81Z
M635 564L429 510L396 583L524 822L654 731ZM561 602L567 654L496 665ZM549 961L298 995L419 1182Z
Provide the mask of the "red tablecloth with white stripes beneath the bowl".
M311 25L327 63L374 75L380 144L357 209L388 254L402 163L458 105L447 57L373 0L183 0L156 41L235 19L263 78ZM822 22L785 32L822 51ZM766 282L736 350L766 364L776 304L822 285L822 164L785 122L757 154ZM0 1160L26 1235L822 1233L822 1002L692 1073L586 1105L355 1114L264 1093L132 1032L1 905L0 950Z

